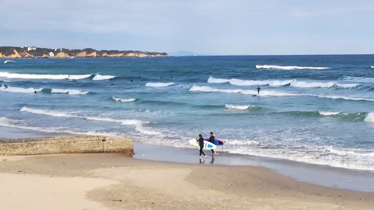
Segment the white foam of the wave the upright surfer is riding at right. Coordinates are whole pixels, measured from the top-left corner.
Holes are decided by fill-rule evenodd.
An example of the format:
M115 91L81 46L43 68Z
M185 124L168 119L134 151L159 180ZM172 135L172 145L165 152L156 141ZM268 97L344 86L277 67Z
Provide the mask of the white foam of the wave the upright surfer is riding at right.
M221 92L221 93L241 93L244 95L257 95L257 90L242 90L242 89L217 89L208 86L192 86L189 91L200 92ZM300 94L291 92L281 92L277 90L261 90L260 96L299 96Z

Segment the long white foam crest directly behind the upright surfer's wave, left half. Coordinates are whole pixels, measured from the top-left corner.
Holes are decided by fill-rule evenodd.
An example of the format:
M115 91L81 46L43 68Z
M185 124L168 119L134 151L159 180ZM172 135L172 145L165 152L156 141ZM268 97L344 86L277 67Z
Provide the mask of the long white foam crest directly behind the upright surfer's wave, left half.
M236 86L252 86L252 85L269 85L269 86L283 86L291 83L294 80L240 80L240 79L221 79L209 77L208 83L230 83Z

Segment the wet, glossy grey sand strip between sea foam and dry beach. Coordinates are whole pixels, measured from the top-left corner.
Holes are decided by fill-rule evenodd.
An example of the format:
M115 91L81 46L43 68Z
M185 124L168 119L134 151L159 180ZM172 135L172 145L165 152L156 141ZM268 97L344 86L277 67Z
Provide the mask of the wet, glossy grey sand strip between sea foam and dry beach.
M1 139L43 138L49 136L70 136L67 133L46 133L35 130L0 126ZM171 163L199 163L198 149L152 145L134 140L134 158ZM206 154L209 154L208 151ZM308 164L290 160L266 158L250 155L218 152L212 160L209 154L205 164L220 166L258 166L271 169L282 176L297 182L310 183L337 189L349 189L361 192L374 192L374 172L366 170L344 169L331 166ZM203 159L202 159L203 161Z

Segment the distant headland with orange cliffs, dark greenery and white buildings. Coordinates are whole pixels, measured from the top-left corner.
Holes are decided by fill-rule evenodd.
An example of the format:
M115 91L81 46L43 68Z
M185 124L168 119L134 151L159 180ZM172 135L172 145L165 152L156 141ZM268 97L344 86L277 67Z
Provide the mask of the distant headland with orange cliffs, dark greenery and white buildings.
M105 58L105 57L162 57L167 53L119 51L119 50L95 50L86 48L77 49L48 49L33 46L24 47L0 47L0 58Z

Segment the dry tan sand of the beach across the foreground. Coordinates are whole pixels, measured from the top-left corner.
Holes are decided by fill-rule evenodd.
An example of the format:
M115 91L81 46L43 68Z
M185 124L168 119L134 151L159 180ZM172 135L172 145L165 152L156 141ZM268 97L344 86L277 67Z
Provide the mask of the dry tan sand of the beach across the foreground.
M296 182L262 167L119 154L2 156L0 187L6 210L374 209L373 193Z

